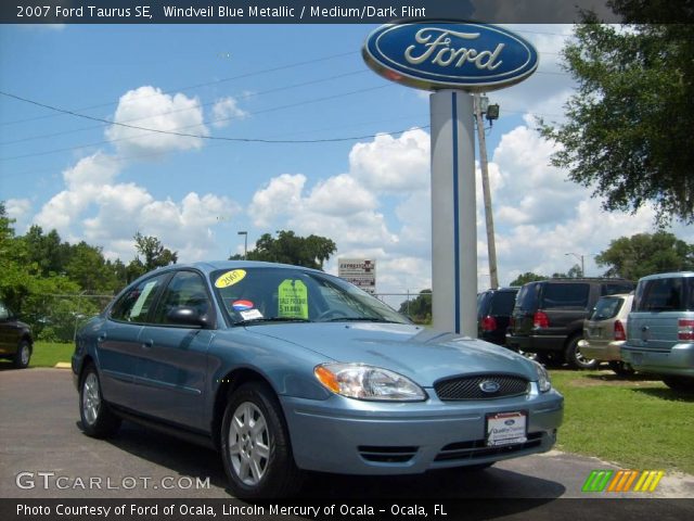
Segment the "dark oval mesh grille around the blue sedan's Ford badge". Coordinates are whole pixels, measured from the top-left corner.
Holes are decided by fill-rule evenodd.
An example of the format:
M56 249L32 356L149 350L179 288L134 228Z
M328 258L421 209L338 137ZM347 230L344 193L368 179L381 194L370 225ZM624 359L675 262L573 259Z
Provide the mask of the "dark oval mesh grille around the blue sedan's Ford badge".
M496 392L483 391L483 384L486 382L496 383L498 390ZM434 390L439 399L444 402L505 398L526 394L528 392L528 380L510 374L475 374L441 380L434 384Z

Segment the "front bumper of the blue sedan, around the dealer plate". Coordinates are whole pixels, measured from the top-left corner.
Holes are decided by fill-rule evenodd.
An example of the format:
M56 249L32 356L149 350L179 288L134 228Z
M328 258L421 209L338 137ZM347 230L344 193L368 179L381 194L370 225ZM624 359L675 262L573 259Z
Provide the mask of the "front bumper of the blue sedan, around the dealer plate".
M387 404L336 395L326 401L282 396L281 402L299 468L347 474L414 474L549 450L562 423L564 398L552 390L470 403L444 403L434 397ZM527 414L526 443L486 446L486 415L502 411Z

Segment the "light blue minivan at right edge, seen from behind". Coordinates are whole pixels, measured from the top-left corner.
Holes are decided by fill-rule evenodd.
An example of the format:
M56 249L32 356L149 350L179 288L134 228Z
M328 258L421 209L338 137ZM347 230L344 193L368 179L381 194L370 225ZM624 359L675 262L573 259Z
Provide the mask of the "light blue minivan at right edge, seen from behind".
M694 271L639 280L621 359L673 390L694 390Z

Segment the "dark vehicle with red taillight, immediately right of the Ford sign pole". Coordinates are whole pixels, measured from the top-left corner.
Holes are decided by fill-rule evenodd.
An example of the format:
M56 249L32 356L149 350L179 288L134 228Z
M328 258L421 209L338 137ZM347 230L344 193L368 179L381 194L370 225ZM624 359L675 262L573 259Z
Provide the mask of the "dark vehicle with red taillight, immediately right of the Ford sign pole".
M498 288L477 295L477 338L504 345L518 288Z

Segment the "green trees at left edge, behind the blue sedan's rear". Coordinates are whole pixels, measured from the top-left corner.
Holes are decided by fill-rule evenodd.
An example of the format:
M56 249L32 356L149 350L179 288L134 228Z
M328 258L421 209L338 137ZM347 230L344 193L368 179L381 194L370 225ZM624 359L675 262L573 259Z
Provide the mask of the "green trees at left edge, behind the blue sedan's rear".
M0 298L28 322L37 339L72 341L76 327L95 315L128 281L177 260L158 239L136 236L138 252L128 266L106 260L100 247L70 245L55 230L33 226L15 237L14 221L0 202ZM104 298L94 295L106 295Z

